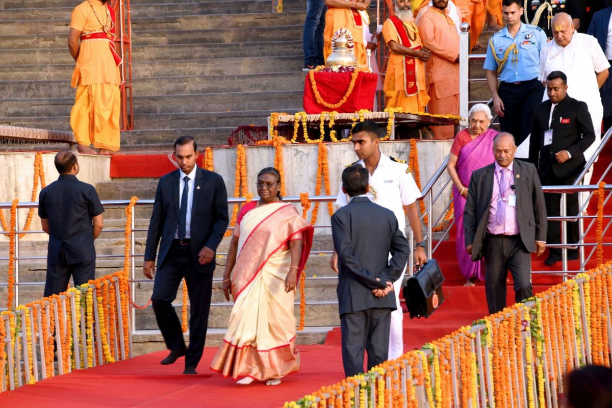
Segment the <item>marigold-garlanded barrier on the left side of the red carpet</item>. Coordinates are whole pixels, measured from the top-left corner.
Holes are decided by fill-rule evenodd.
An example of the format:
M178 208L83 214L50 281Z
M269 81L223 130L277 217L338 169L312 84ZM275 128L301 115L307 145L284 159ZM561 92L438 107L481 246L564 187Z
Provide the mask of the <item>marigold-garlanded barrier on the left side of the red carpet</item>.
M128 358L128 302L121 287L127 289L124 271L3 311L0 392Z

